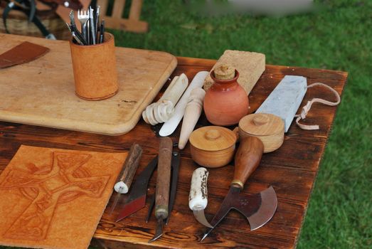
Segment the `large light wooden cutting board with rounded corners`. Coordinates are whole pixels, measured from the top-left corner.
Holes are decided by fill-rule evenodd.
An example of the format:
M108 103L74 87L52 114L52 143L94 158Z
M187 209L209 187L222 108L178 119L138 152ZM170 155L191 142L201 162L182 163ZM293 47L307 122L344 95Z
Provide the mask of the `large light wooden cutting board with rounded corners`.
M119 92L107 100L75 95L67 41L0 34L0 54L22 41L46 46L37 60L0 69L0 120L108 135L129 132L176 68L174 55L117 48ZM89 63L87 61L87 63Z

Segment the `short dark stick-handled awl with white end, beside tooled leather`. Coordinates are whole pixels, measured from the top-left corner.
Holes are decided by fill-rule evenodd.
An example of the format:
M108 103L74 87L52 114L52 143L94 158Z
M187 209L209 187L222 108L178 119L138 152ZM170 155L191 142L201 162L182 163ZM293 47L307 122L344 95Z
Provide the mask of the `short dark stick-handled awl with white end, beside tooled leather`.
M114 186L114 189L117 192L117 194L112 203L110 213L114 211L121 194L128 193L129 187L132 184L134 174L136 174L139 165L139 159L141 159L141 156L142 147L140 147L139 144L132 144L132 147L130 147L129 149L129 154L124 161L122 172L119 174L119 179Z

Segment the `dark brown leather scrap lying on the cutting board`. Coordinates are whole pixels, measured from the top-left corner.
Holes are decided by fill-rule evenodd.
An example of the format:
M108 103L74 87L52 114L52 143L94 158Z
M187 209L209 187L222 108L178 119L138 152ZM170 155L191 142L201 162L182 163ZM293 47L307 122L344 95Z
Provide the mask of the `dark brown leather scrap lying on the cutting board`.
M28 63L48 52L49 48L28 41L23 41L23 43L0 55L0 68L8 68L12 65Z

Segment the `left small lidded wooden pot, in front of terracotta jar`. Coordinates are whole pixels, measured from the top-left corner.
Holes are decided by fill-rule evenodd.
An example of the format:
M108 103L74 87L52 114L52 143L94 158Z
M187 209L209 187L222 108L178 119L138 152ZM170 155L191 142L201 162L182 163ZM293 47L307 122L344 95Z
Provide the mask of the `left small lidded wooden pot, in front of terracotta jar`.
M235 133L225 127L201 127L189 139L191 158L208 168L225 166L233 160L236 140Z

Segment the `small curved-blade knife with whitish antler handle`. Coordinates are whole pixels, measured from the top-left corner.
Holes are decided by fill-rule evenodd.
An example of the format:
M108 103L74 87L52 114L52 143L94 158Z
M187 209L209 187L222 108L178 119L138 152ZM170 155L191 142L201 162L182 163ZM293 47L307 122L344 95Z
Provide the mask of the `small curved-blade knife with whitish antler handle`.
M212 228L204 215L204 209L208 205L208 170L200 167L193 171L191 178L190 194L188 196L188 207L193 211L193 216L203 226Z

